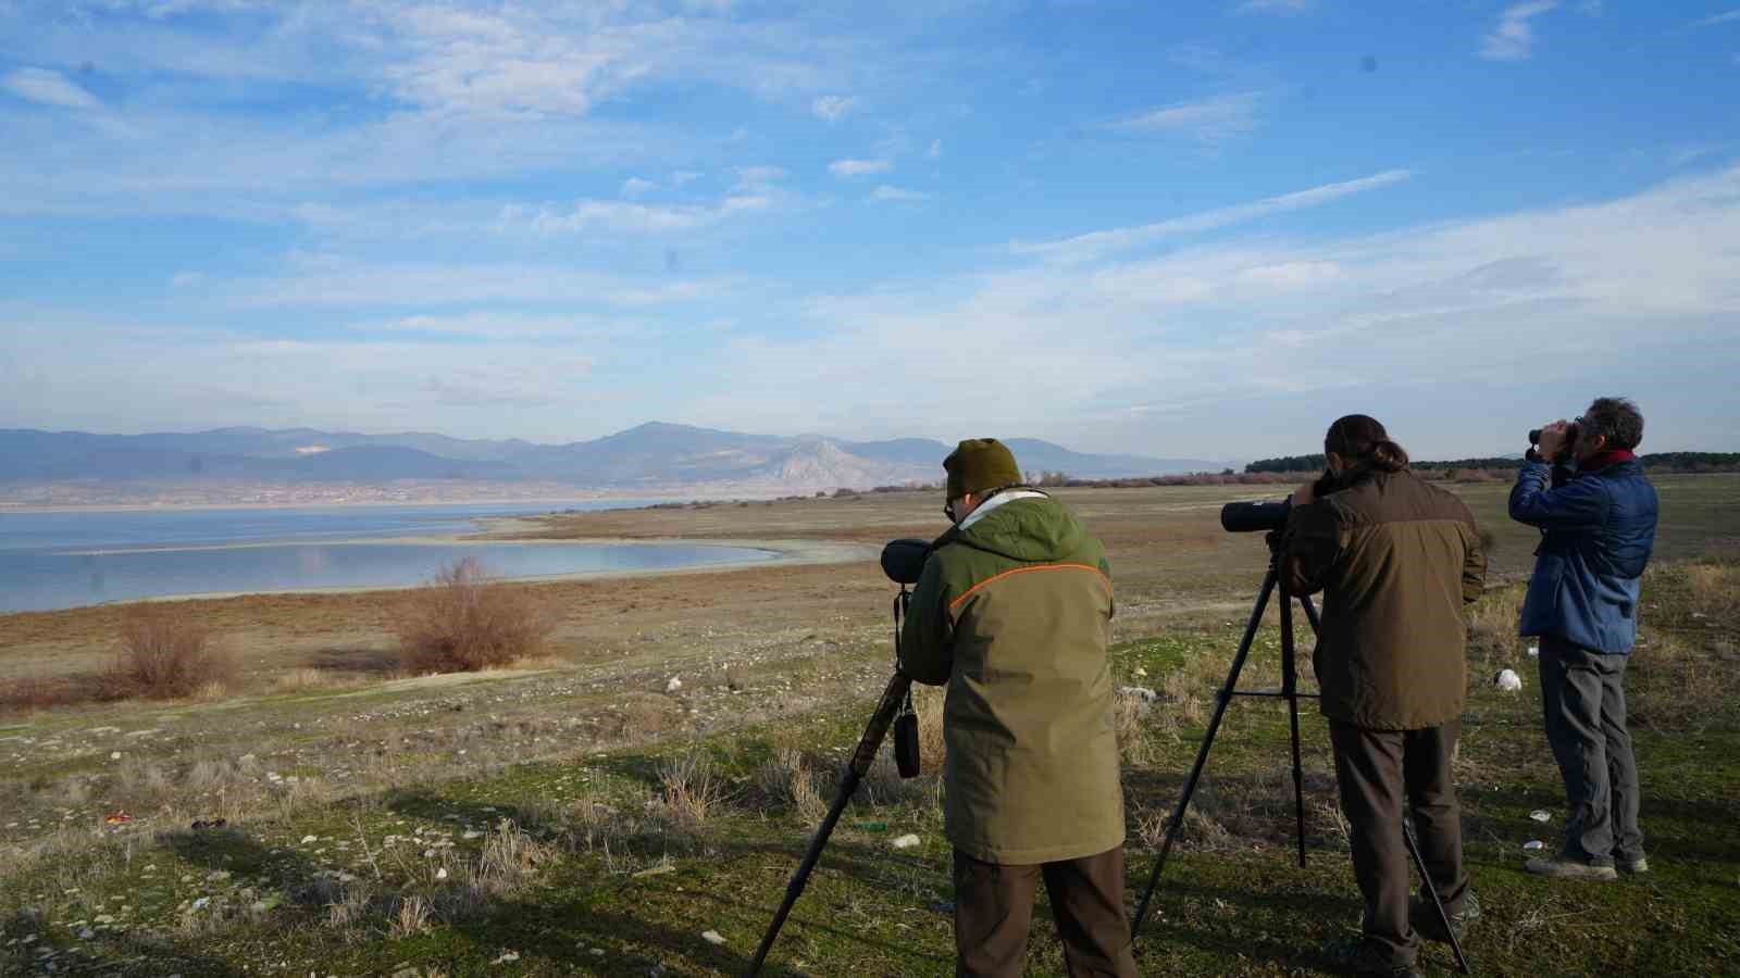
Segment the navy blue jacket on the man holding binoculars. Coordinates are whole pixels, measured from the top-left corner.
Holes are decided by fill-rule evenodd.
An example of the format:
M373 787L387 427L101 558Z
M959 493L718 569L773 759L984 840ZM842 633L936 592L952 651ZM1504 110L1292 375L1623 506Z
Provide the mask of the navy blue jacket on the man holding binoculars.
M1522 463L1510 519L1543 531L1522 602L1524 635L1596 653L1630 653L1637 592L1655 546L1655 486L1637 461L1618 461L1549 487L1547 463Z

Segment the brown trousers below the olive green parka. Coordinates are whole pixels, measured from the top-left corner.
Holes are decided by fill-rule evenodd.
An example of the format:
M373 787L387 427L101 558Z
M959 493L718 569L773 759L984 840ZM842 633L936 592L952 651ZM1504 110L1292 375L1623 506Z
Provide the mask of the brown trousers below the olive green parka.
M1020 975L1039 879L1075 975L1134 978L1136 957L1124 914L1124 847L1030 867L981 863L955 849L955 975Z

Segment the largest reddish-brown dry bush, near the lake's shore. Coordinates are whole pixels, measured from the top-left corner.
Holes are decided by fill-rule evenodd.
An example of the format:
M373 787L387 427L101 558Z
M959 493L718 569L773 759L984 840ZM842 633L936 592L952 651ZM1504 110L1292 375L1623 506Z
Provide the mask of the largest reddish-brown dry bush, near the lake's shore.
M411 592L393 621L400 661L416 675L508 665L541 651L552 628L531 592L491 581L473 557Z

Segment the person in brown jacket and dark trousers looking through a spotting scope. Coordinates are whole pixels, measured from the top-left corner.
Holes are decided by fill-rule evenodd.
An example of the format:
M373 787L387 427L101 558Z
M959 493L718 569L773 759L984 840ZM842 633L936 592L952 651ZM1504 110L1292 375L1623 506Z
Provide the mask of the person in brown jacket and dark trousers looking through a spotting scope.
M1451 928L1479 915L1449 757L1467 698L1462 606L1481 595L1486 555L1462 499L1415 477L1375 418L1338 419L1324 454L1329 472L1293 494L1279 546L1286 586L1324 592L1314 667L1366 900L1347 964L1420 975L1420 936L1448 934L1430 903L1408 901L1404 797Z

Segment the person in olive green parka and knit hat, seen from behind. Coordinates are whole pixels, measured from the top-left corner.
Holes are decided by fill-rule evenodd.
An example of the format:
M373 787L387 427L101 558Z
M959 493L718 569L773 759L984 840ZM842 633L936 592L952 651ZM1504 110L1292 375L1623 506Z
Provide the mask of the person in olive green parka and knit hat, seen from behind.
M948 687L955 973L1021 973L1044 879L1068 973L1133 976L1105 546L995 439L943 470L955 526L914 588L900 668Z

